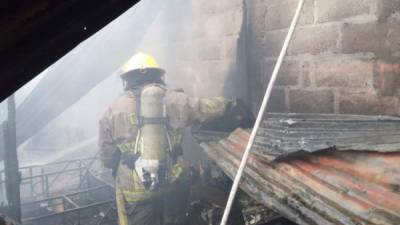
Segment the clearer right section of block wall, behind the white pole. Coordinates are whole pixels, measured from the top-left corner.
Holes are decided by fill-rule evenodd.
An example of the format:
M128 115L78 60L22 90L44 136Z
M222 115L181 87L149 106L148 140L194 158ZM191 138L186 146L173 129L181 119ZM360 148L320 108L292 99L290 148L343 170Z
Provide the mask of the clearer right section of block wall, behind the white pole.
M246 1L257 111L298 0ZM400 114L400 1L306 0L271 111Z

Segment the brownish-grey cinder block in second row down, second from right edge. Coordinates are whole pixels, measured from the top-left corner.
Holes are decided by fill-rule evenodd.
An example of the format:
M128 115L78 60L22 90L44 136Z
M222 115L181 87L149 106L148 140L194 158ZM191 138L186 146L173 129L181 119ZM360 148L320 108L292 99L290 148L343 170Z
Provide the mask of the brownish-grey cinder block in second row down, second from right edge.
M379 26L383 26L383 24L377 22L344 24L342 32L343 52L377 52L380 48L380 41L384 38L383 31Z

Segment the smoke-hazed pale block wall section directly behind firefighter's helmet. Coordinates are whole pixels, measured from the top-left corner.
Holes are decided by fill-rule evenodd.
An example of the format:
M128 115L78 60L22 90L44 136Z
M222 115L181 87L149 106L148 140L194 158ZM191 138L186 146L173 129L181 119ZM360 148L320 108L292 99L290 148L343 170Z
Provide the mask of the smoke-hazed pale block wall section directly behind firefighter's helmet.
M170 87L198 97L246 98L240 54L242 0L172 0L146 33L139 50L154 54Z

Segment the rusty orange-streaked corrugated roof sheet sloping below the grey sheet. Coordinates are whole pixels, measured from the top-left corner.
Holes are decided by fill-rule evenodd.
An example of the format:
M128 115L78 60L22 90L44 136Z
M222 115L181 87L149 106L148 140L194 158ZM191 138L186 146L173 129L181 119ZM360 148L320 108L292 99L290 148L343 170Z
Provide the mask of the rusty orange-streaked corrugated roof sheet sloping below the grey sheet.
M227 138L212 136L202 136L201 146L233 178L249 132L238 129ZM399 152L329 149L269 161L260 157L262 151L253 149L241 188L294 222L400 224Z

